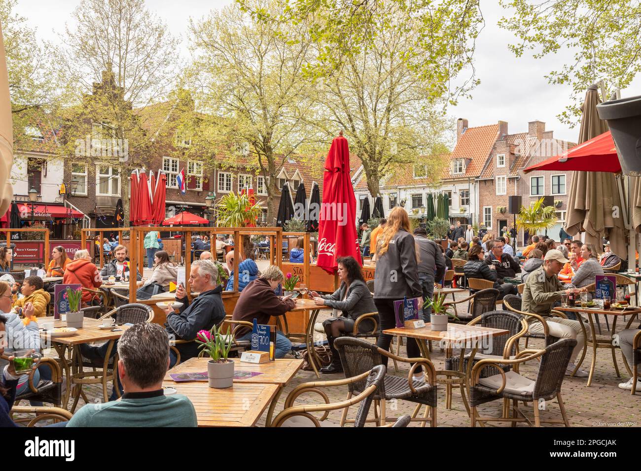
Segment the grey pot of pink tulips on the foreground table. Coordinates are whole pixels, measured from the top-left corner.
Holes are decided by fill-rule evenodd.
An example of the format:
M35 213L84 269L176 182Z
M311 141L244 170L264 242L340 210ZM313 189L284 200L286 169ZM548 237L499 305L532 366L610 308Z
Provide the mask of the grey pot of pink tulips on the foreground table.
M210 356L207 362L207 378L210 388L231 388L234 380L234 362L228 359L234 336L223 335L213 326L211 330L201 330L196 335L196 342L203 349L198 357Z

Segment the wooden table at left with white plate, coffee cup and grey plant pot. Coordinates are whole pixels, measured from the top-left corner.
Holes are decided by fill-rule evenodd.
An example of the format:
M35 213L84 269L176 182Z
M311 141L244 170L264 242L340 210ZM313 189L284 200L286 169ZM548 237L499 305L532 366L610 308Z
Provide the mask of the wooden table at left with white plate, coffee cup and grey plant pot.
M53 324L53 327L67 327L67 322L65 322L64 320L56 320L53 318L53 316L37 317L36 320L38 322L38 325L44 328L47 328L46 326L51 324ZM78 388L76 390L76 400L74 401L74 406L72 407L72 409L76 408L76 403L78 402L78 397L80 395L83 397L85 402L87 403L89 402L87 399L87 396L85 396L85 393L82 390L82 384L85 384L85 381L83 381L83 378L81 377L82 366L81 366L80 345L83 343L92 343L92 342L110 342L110 346L113 349L113 343L115 343L115 340L119 339L122 333L129 328L127 326L117 326L117 329L119 330L112 331L109 329L100 329L98 327L100 324L101 324L100 320L85 317L83 320L82 328L78 329L76 335L71 335L68 337L51 338L51 336L47 334L47 331L44 331L44 330L40 331L40 336L45 338L47 342L51 341L54 349L56 349L56 352L58 352L61 366L65 371L65 376L67 377L67 392L65 393L65 397L63 399L63 406L65 408L67 408L67 405L69 404L72 384L76 384ZM65 358L65 350L67 349L72 351L71 362ZM110 351L111 349L108 348L108 352ZM104 366L106 366L108 357L109 355L107 355L105 358ZM70 368L72 368L72 374L69 373ZM104 402L107 402L109 400L109 396L107 394L107 381L108 379L112 379L113 381L116 381L115 374L116 374L116 368L113 369L112 378L108 378L106 375L103 375L102 377L101 383L103 384Z

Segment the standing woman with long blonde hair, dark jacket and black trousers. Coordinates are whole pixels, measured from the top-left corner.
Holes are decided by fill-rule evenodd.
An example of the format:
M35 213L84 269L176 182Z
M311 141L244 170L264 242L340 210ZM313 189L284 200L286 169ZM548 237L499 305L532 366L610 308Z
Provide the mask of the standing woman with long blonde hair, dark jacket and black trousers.
M419 279L419 267L414 237L410 233L410 218L407 212L397 206L390 212L383 233L376 244L376 273L374 274L374 304L381 318L381 331L396 326L394 301L419 298L419 308L423 302L423 288ZM391 335L379 335L377 345L389 350ZM420 356L419 345L408 338L407 354L410 358ZM387 357L383 357L387 366ZM424 376L417 368L414 379Z

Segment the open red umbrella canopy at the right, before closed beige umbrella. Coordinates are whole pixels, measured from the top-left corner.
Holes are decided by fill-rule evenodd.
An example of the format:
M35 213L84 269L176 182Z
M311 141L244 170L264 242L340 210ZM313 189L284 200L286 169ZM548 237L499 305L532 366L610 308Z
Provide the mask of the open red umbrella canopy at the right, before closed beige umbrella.
M584 172L619 173L621 164L614 147L610 131L596 136L569 151L530 165L525 173L532 170L577 170Z

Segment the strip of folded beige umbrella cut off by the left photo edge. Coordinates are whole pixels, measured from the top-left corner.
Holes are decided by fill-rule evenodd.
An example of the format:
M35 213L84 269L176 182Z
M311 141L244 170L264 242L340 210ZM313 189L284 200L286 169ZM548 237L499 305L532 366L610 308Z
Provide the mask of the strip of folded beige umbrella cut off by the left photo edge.
M13 124L9 99L9 76L6 71L4 40L0 25L0 216L6 213L13 197L9 174L13 165Z

